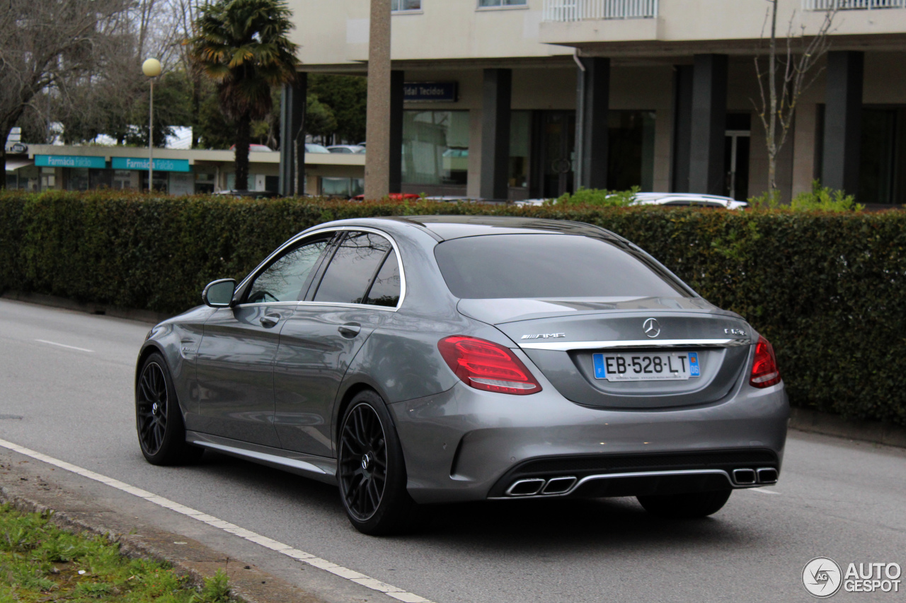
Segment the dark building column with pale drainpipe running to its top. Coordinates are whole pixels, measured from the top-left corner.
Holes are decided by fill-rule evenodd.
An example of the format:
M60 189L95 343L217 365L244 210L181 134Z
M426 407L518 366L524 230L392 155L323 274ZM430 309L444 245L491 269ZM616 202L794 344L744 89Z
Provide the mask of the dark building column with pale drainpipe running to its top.
M576 148L578 187L607 188L607 153L610 148L607 117L611 110L611 60L605 57L579 59L576 99ZM576 188L578 188L576 187Z

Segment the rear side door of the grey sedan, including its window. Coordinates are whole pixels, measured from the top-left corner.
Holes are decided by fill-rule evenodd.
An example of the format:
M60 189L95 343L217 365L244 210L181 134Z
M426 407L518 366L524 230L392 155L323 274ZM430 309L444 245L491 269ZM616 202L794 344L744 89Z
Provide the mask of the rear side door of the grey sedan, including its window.
M333 456L333 404L356 352L400 302L400 258L384 235L349 231L287 319L275 361L275 426L287 450Z

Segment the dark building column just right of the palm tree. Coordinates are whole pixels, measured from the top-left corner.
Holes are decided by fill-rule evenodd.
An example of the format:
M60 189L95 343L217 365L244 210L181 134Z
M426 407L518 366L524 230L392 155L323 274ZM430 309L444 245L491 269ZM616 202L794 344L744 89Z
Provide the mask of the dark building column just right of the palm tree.
M305 190L305 105L308 73L297 73L294 84L285 84L280 99L280 186L282 196L302 195Z

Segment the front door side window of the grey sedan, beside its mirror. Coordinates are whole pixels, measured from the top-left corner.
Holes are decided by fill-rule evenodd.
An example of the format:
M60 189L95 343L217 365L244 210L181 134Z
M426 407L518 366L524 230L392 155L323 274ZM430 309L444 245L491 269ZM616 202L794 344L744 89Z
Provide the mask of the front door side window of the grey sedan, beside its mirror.
M302 288L330 242L329 237L319 239L294 247L280 256L255 277L248 289L246 303L297 301L304 294Z

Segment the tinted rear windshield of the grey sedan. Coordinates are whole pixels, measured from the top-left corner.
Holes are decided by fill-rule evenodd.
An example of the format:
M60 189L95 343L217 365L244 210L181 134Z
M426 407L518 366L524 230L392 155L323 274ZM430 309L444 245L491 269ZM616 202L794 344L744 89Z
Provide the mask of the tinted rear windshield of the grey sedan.
M434 254L450 292L466 300L689 297L642 254L588 236L469 236Z

